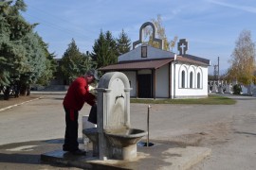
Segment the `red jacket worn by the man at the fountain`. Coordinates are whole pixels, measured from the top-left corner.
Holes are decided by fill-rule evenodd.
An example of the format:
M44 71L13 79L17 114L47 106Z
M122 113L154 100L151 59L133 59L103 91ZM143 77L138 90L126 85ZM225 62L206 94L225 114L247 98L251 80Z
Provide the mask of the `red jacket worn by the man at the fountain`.
M95 104L95 95L89 93L89 87L86 79L81 76L75 79L69 86L64 96L64 108L69 110L82 110L84 102L93 106Z

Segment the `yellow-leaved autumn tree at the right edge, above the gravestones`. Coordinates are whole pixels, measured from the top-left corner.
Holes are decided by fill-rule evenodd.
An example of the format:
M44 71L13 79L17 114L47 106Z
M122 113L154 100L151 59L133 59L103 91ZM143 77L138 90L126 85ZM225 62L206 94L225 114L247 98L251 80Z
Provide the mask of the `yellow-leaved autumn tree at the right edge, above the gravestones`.
M253 82L255 57L255 43L251 40L250 31L243 30L235 42L235 48L229 60L231 63L228 70L229 79L238 80L238 82L244 85Z

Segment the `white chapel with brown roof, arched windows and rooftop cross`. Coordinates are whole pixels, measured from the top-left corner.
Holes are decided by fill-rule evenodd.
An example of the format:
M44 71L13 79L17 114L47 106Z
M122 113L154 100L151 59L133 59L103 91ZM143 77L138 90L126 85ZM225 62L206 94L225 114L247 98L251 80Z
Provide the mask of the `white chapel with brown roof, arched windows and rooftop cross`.
M141 44L145 26L152 26L153 39L160 48ZM137 47L136 47L137 46ZM186 54L188 42L178 42L179 55L163 50L163 41L155 38L155 26L147 22L140 27L139 40L133 50L119 56L118 63L100 68L102 72L119 71L130 81L131 97L202 98L208 96L210 59Z

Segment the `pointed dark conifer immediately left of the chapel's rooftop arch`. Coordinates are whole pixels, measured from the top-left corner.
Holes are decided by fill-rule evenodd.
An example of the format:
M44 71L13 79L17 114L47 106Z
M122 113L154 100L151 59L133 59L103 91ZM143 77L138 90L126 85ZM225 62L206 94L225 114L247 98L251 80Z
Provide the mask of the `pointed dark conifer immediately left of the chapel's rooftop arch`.
M119 56L127 53L131 49L131 40L128 38L124 30L121 30L119 38L117 39Z

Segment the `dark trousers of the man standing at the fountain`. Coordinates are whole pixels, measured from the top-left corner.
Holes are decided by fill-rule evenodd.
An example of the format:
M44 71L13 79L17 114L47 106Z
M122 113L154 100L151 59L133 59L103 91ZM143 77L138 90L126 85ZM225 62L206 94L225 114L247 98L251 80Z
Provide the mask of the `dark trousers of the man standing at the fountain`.
M78 110L65 111L65 133L64 133L64 150L75 151L79 149L78 143Z

